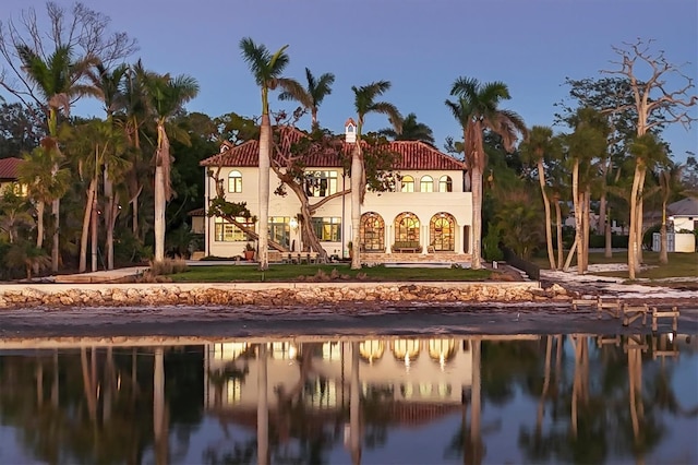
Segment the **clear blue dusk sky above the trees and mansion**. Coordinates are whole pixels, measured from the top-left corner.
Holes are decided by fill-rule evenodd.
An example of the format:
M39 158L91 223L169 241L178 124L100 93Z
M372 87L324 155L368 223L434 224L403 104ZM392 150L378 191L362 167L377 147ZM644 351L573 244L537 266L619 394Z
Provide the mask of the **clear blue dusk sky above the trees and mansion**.
M72 2L59 1L70 7ZM190 111L212 117L229 111L260 114L260 92L240 57L239 41L252 37L276 50L289 45L287 75L304 81L336 75L333 94L318 119L335 132L352 115L352 85L388 80L384 99L434 130L438 147L461 131L444 105L458 76L503 81L512 99L503 103L527 124L552 126L555 108L568 94L566 76L600 78L617 58L612 46L652 38L670 62L687 63L698 78L698 2L695 0L120 0L83 3L109 15L112 29L139 40L147 69L189 74L201 85ZM3 0L0 19L44 1ZM615 68L617 69L617 67ZM693 93L696 94L696 88ZM274 96L273 109L288 108ZM100 115L96 104L79 112ZM698 117L698 108L691 109ZM310 116L301 121L310 127ZM387 127L372 115L368 130ZM554 129L565 131L566 128ZM698 124L665 131L677 160L698 152Z

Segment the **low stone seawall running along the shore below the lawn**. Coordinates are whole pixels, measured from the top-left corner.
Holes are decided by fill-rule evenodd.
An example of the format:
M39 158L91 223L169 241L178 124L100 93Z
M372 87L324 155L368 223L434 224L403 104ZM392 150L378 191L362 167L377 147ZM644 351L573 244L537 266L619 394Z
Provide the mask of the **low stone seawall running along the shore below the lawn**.
M557 285L539 283L231 283L0 285L0 308L294 306L348 301L516 302L568 300Z

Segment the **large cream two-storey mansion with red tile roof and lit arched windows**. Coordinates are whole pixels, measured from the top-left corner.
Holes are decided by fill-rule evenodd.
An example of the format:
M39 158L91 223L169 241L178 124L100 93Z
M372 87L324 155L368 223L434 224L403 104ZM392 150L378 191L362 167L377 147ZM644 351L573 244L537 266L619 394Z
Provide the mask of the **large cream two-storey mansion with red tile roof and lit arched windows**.
M349 120L348 140L353 136L354 128ZM289 133L282 150L303 136L297 129L286 131ZM342 150L349 154L352 146L345 142ZM423 142L393 141L389 150L399 155L394 169L401 178L395 192L366 192L360 225L363 261L469 261L472 196L466 189L466 165ZM258 141L238 146L226 142L220 153L200 163L206 171L206 208L216 194L215 179L207 174L220 169L218 178L225 182L226 199L246 202L252 215L258 214ZM345 176L338 153L312 155L306 162L305 172L315 179L306 187L311 204L350 188L350 178ZM279 181L274 172L270 177L269 239L289 251L302 251L304 245L297 219L300 202L289 189L285 196L274 194ZM350 193L323 205L313 224L328 257L349 257ZM249 226L258 229L254 224ZM206 255L238 257L246 242L245 235L234 225L219 217L205 217Z

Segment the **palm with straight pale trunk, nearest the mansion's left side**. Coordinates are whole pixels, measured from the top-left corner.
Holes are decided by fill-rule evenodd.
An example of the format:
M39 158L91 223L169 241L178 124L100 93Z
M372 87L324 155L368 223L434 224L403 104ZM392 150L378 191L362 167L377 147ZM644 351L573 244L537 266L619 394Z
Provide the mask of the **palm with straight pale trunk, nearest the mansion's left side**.
M157 124L157 148L155 150L155 262L165 261L165 206L172 198L170 168L170 142L168 138L169 119L182 106L198 94L198 83L194 78L148 73L146 88L151 111ZM176 128L169 128L170 133ZM179 131L177 136L189 142L189 134Z

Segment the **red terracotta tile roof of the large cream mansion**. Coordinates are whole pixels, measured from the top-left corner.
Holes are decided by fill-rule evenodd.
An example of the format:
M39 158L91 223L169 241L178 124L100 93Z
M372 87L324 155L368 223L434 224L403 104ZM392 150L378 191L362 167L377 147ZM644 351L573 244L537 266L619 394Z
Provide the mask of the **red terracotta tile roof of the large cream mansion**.
M298 129L284 131L285 135L281 147L288 151L291 144L298 142L303 135ZM305 166L318 168L341 167L341 154L349 155L353 144L344 142L341 151L327 150L324 153L316 153L305 159ZM389 148L401 155L397 159L394 169L412 170L464 170L466 164L446 155L433 146L418 141L392 141ZM200 162L201 166L237 166L256 167L258 165L260 143L258 141L248 141L241 145L231 146L224 142L221 152Z

